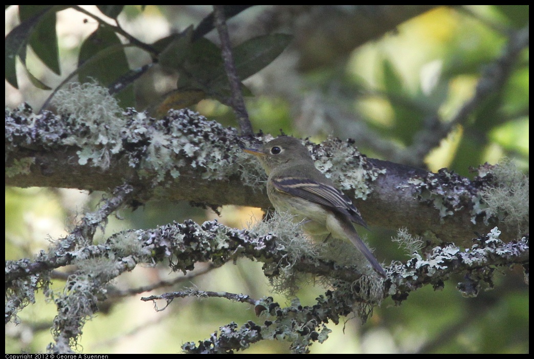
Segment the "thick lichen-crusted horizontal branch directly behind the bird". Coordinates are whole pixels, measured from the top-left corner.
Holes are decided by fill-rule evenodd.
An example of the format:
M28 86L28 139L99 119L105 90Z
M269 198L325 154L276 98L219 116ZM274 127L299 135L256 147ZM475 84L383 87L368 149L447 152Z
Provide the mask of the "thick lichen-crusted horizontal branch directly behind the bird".
M107 191L129 183L139 189L135 199L141 202L164 197L210 206L270 206L265 175L240 150L237 131L189 110L172 110L162 119L120 112L105 105L108 97L99 91L92 84L70 89L77 100L67 103L83 105L84 111L6 110L6 185ZM458 243L499 224L501 215L483 197L496 181L491 166L482 166L482 174L470 181L446 170L433 174L368 159L352 141L308 146L317 167L354 198L370 225L406 227ZM525 194L528 198L528 186L515 196ZM516 238L516 228L513 223L500 228L502 238Z

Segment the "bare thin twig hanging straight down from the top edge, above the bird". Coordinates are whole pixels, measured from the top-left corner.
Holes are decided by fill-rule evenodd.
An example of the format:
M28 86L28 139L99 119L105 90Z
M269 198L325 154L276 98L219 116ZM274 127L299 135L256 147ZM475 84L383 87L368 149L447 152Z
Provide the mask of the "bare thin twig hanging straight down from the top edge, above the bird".
M253 135L252 124L248 118L247 109L245 107L245 100L241 93L241 81L235 70L234 60L232 56L232 49L230 45L230 36L228 35L228 28L226 26L226 19L224 15L224 5L213 5L213 12L215 15L215 27L221 39L221 50L224 61L224 69L230 82L230 89L232 90L231 104L235 112L235 116L239 122L241 135Z

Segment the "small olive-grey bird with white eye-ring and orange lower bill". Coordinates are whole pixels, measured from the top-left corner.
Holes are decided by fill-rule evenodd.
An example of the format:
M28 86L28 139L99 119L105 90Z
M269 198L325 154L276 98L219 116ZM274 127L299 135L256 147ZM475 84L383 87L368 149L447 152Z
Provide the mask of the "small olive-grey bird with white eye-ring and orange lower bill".
M382 278L386 271L362 241L352 223L367 228L351 199L315 167L308 148L291 136L280 136L258 148L243 148L254 154L269 176L267 194L277 212L288 212L302 222L312 236L349 240L362 252ZM328 238L328 237L327 237Z

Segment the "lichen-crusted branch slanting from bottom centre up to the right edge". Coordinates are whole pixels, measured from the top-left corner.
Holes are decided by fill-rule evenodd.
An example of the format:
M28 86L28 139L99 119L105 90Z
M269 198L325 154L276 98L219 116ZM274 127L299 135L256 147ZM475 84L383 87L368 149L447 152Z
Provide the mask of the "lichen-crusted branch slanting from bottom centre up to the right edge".
M383 293L391 295L397 302L406 299L409 292L422 285L431 284L435 288L442 287L444 280L460 268L470 267L464 282L458 284L458 289L466 296L475 296L482 287L492 286L493 265L488 266L496 253L506 253L501 257L507 265L507 259L515 257L522 263L528 263L529 250L528 238L523 238L517 243L503 244L498 239L498 231L492 231L488 236L480 238L472 251L461 253L458 248L434 248L433 255L427 260L416 256L405 266L397 266L398 272L393 274L385 287L388 291ZM496 263L493 263L496 264ZM417 268L425 268L427 275L415 274ZM413 270L415 275L411 275ZM460 269L461 270L461 269ZM389 272L389 270L388 270ZM419 272L420 273L420 272ZM356 311L365 321L372 313L372 301L352 301L351 294L362 291L355 283L338 281L335 290L327 291L317 298L313 306L302 306L298 300L294 300L288 307L281 308L274 303L272 298L256 303L258 321L249 321L238 327L236 323L230 323L219 328L219 332L213 333L209 339L187 342L182 346L186 353L233 353L242 350L259 340L284 340L290 342L290 349L294 353L308 353L313 342L323 342L328 338L328 321L339 322L339 317Z

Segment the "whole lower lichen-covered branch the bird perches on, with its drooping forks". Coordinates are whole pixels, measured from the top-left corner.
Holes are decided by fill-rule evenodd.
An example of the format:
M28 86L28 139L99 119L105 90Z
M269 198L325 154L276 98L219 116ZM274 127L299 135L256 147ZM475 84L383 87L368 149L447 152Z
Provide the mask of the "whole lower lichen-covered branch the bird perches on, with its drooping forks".
M478 239L469 251L461 251L453 245L435 247L425 258L415 255L406 264L386 267L388 279L382 280L362 276L361 267L340 266L317 255L297 254L299 257L295 258L294 251L288 251L288 241L284 239L287 236L293 240L294 233L258 235L253 231L226 227L217 221L202 225L186 221L152 230L120 232L102 245L82 241L75 248L61 253L41 253L35 261L7 261L6 291L12 293L13 307L17 306L17 295L21 293L29 293L26 294L28 298L38 288L44 288L45 294L52 295L46 280L50 270L76 264L77 270L67 280L64 292L53 296L58 315L53 327L56 342L49 346L49 351L63 353L72 351L71 348L76 346L84 322L97 310L97 302L106 298L106 284L122 272L135 268L137 263L169 261L173 270L185 272L193 269L197 262L209 261L217 266L238 257L247 257L263 262L265 274L271 278L280 276L282 271L285 275L289 271L305 272L328 278L332 290L318 298L317 305L312 307L293 305L280 308L270 303L268 298L264 299L265 303L260 301L257 306L265 309L256 308L263 324L248 323L245 329L240 329L250 335L252 325L261 335L249 338L249 341L232 340L224 345L219 345L219 342L213 348L219 351L237 350L254 340L280 339L292 342L295 352L305 352L311 342L326 339L324 325L327 321L337 323L339 316L353 312L365 320L373 306L387 296L400 303L411 291L423 285L443 286L450 275L459 272L468 274L465 284L459 286L460 290L466 295L476 295L484 283L491 285L495 266L528 263L528 238L505 244L499 235L498 230L493 230ZM70 243L68 237L60 240L59 244L67 242ZM39 262L49 264L36 266L35 263ZM300 329L295 331L295 327ZM225 331L225 334L233 333L234 336L235 332ZM192 344L186 346L186 350L199 350L194 349Z

